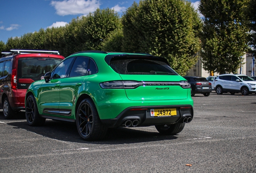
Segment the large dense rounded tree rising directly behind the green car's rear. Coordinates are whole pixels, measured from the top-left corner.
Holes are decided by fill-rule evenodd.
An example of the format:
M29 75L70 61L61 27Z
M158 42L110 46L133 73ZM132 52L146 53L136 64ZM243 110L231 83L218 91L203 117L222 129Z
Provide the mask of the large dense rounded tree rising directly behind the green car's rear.
M195 64L200 48L200 18L186 0L141 0L122 17L123 51L167 58L184 75Z

